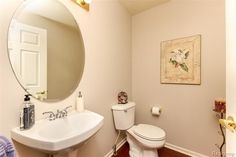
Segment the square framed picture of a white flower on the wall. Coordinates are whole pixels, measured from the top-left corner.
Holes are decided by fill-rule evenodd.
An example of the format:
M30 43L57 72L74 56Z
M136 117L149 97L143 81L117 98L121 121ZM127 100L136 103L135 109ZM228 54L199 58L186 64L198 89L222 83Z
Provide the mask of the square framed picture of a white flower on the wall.
M201 84L201 35L161 42L161 83Z

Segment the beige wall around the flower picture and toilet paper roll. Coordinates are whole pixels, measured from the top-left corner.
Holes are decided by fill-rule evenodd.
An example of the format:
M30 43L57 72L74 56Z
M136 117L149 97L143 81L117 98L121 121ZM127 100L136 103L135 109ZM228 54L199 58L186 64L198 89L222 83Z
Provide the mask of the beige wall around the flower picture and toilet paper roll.
M136 120L160 126L167 142L205 155L221 136L214 99L225 97L224 0L172 0L132 18L132 93ZM160 42L202 35L201 85L160 84ZM160 104L162 115L150 114Z

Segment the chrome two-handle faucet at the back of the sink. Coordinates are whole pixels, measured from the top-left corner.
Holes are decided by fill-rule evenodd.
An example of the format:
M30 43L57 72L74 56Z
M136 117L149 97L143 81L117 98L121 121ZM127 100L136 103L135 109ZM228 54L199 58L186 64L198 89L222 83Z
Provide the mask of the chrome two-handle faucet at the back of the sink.
M48 116L49 121L52 121L52 120L55 120L55 119L58 119L58 118L64 118L68 115L68 109L71 108L71 107L72 106L67 106L63 110L57 110L56 113L54 113L52 111L43 112L43 115L49 114L49 116Z

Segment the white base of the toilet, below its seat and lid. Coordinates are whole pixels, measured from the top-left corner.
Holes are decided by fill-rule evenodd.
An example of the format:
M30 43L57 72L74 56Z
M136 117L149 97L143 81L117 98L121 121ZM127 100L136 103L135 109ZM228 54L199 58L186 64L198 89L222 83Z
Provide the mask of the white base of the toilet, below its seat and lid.
M129 143L130 157L158 157L156 148L147 148L135 141L133 137L127 134L127 141Z

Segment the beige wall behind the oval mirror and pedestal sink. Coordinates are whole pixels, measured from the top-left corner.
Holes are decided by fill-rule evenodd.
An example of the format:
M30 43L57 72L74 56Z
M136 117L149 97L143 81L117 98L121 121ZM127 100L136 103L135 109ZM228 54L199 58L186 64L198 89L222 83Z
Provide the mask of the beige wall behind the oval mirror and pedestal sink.
M112 148L116 138L111 104L116 102L117 93L125 90L131 95L131 17L116 0L94 0L90 12L68 0L61 0L73 12L78 21L85 43L86 61L82 82L77 91L58 103L36 104L36 118L47 110L74 105L75 97L82 90L86 108L105 117L104 126L89 143L82 146L80 157L102 157ZM0 1L0 89L3 104L0 109L0 133L10 135L10 130L19 125L20 104L24 91L11 71L7 56L7 29L14 10L20 0ZM32 149L17 146L21 157L43 157ZM91 151L92 149L92 151Z

